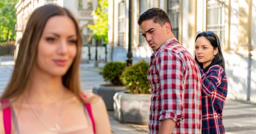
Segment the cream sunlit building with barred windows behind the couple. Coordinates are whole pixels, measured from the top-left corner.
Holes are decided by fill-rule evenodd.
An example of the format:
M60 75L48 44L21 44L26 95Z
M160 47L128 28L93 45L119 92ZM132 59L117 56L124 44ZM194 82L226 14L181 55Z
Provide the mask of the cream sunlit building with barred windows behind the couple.
M150 60L151 48L137 24L146 10L163 9L175 37L194 54L197 31L214 31L220 38L228 97L256 102L256 1L255 0L132 0L133 59ZM108 42L113 61L125 61L128 48L129 0L109 0Z

